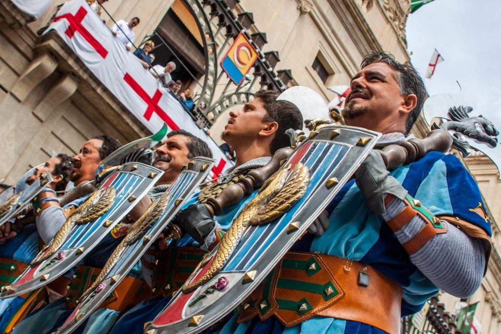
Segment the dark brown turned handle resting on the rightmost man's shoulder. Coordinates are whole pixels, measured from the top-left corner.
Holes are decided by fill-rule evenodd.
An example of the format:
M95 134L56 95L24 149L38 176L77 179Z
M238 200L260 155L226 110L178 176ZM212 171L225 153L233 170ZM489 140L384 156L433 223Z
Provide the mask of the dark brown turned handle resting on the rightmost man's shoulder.
M380 150L384 164L389 170L421 159L430 151L448 152L452 137L441 129L430 131L423 139L410 139L400 144L391 144Z

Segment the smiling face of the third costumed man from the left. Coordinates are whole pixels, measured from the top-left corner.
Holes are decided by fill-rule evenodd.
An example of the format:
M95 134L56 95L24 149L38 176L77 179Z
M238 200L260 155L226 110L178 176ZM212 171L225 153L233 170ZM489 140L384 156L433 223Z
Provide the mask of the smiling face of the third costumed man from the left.
M170 184L179 175L183 165L190 162L189 142L190 139L186 136L174 135L156 149L153 166L164 171L159 184Z

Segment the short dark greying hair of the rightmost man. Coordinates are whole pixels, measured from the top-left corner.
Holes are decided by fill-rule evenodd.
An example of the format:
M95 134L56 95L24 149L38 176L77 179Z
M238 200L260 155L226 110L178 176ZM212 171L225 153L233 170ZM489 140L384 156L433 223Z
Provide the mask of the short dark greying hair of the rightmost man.
M407 122L405 123L405 135L409 134L414 123L416 123L419 113L423 108L424 100L426 100L426 89L424 88L423 79L419 76L416 69L412 66L401 64L395 60L392 54L373 51L362 60L363 69L374 63L386 63L397 72L398 87L401 95L414 94L417 97L416 107L411 110Z

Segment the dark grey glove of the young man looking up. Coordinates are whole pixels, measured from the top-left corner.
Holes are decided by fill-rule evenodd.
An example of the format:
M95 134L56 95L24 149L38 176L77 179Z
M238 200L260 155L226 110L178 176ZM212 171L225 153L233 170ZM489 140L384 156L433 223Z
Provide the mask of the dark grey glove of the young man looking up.
M174 224L191 235L195 241L202 243L216 223L205 204L192 204L176 215Z

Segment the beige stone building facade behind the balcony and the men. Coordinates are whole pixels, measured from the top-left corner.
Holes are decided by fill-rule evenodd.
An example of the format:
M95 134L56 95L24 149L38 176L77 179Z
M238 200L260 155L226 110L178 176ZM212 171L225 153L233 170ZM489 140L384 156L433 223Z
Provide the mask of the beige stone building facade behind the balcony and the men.
M114 20L140 17L140 25L134 29L136 45L150 38L152 32L159 32L154 38L166 40L173 50L157 49L157 59L185 61L178 73L183 75L185 87L199 92L197 82L203 82L207 74L203 64L206 51L203 34L197 31L196 20L190 18L193 8L189 4L196 1L204 3L148 0L146 5L139 0L110 0L104 6ZM28 167L45 161L51 150L74 154L85 139L94 135L106 133L128 142L149 134L57 35L37 36L36 32L51 20L56 6L62 2L54 0L44 16L33 21L10 0L0 0L3 136L0 179L5 178L6 183L15 182ZM389 51L398 61L409 62L405 42L408 0L226 0L223 3L242 25L246 23L248 33L260 43L278 82L285 87L311 87L326 101L335 97L327 87L348 85L363 56L371 50ZM206 8L207 15L209 10ZM113 21L107 13L101 17L111 27ZM210 20L210 25L213 31L218 31L217 20ZM218 61L231 44L227 39L224 34L215 38L213 46ZM245 91L252 93L269 87L266 85L271 84L250 80ZM215 99L236 89L226 86L214 86ZM206 122L213 124L214 140L218 140L217 134L226 122L230 106L224 105L209 116L202 115L205 123L200 126ZM418 121L413 132L418 137L424 136L427 132L424 120ZM477 317L483 332L495 333L501 331L498 323L501 258L496 250L501 242L496 224L501 221L501 200L496 196L501 183L485 158L474 156L466 159L466 163L490 208L495 245L482 288L471 301L481 300ZM440 298L446 310L454 309L457 298L445 295Z

